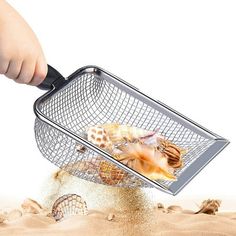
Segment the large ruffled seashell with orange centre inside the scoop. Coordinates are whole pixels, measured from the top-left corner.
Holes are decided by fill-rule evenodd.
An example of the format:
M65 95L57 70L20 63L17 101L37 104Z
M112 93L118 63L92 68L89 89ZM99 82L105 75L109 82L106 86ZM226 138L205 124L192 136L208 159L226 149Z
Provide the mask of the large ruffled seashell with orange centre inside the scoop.
M155 148L141 143L128 143L122 146L121 150L123 153L115 158L147 178L176 180L172 174L173 168L168 165L166 157Z

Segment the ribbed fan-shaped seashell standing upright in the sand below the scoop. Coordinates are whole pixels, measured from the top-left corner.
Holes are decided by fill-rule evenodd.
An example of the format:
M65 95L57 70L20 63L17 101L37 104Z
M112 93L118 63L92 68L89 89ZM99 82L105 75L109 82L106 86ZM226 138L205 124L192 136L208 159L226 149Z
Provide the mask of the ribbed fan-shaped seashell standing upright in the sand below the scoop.
M52 216L56 221L73 215L87 215L86 202L77 194L66 194L58 198L52 207Z

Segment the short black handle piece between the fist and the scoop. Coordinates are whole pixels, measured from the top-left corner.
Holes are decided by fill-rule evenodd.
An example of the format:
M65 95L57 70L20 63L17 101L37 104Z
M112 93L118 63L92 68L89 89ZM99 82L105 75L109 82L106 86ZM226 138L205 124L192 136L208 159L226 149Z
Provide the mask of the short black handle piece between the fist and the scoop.
M64 77L52 66L48 65L48 73L44 81L37 87L43 90L49 90L52 88L53 83L56 80L64 80Z

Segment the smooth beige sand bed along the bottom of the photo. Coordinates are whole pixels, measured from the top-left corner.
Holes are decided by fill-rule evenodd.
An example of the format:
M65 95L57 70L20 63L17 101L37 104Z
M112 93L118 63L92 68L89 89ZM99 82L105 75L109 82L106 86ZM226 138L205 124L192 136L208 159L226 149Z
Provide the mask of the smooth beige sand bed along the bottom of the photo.
M0 224L0 235L11 236L179 236L236 235L236 213L217 215L163 213L162 210L122 212L92 211L71 216L61 222L42 214L23 214ZM109 213L114 219L108 220Z

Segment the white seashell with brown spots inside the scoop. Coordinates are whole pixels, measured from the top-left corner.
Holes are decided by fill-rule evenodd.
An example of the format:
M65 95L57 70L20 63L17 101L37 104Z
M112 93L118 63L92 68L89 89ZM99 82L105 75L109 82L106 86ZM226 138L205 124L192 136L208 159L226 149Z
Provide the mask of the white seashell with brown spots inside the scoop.
M109 148L112 143L103 127L93 126L87 130L87 139L100 148Z

